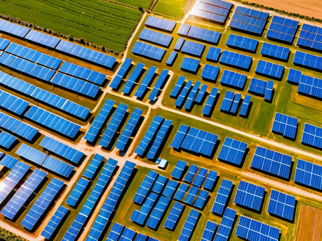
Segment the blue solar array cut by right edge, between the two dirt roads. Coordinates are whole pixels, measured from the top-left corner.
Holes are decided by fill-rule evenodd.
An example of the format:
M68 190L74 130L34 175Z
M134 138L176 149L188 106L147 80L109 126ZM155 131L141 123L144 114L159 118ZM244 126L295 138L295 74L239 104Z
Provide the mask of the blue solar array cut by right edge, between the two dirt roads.
M322 190L322 166L298 159L294 182Z

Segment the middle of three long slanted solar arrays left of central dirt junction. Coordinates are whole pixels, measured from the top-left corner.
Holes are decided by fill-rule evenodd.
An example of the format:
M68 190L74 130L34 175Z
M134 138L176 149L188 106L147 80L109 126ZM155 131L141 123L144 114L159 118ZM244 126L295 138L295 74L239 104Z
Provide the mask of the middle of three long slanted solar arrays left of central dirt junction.
M107 129L104 131L102 138L99 141L99 145L102 147L108 147L121 124L125 113L128 111L128 105L119 103L116 111L114 112Z

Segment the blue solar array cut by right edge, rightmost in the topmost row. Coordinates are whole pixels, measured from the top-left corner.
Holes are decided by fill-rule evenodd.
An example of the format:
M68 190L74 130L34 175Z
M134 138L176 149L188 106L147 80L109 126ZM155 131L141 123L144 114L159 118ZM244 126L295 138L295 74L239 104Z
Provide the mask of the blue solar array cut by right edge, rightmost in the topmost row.
M302 48L322 50L322 28L303 23L296 45Z

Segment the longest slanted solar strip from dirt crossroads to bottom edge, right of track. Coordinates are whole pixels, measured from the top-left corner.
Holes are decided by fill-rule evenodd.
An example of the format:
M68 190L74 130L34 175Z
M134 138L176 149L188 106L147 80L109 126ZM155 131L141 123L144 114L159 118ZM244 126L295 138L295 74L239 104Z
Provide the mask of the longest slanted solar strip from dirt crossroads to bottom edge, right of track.
M131 176L133 169L135 167L135 163L126 161L120 174L113 184L113 187L105 200L102 208L99 211L98 217L95 219L95 222L90 229L90 233L86 238L86 241L98 241L101 236L110 215L112 214L116 204L118 203L118 199L120 198L125 185L128 182L129 177Z

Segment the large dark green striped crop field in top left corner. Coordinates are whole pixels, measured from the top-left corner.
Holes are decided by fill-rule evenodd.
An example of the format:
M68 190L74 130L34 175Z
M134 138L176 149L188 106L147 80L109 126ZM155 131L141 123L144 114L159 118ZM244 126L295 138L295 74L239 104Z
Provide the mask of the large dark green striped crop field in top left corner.
M105 1L5 0L0 13L121 51L141 12Z

